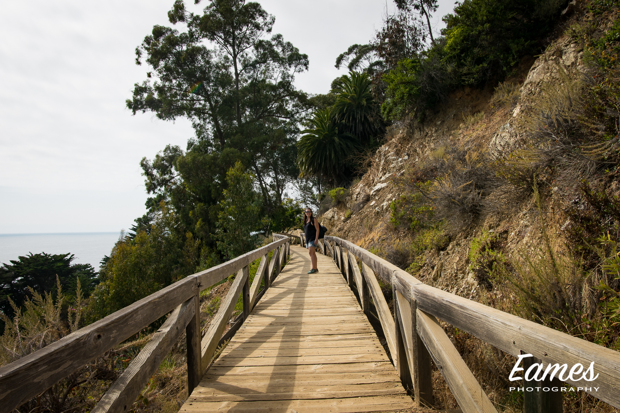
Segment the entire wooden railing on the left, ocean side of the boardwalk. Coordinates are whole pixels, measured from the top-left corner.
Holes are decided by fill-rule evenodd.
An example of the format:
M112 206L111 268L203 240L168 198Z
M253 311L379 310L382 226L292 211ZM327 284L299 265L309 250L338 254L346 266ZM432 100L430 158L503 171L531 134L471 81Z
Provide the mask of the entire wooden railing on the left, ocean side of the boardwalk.
M187 336L188 394L192 393L208 368L239 294L243 297L243 312L240 315L243 321L257 302L261 280L264 280L261 290L264 292L280 274L290 251L291 238L274 234L273 240L269 245L227 263L185 277L43 349L1 367L0 413L11 412L42 394L58 381L168 313L170 315L166 322L131 360L125 372L91 412L123 412L130 409L184 329ZM269 260L268 254L271 251L273 254ZM258 258L259 268L252 285L249 285L249 264ZM235 272L237 276L226 298L201 337L200 291Z

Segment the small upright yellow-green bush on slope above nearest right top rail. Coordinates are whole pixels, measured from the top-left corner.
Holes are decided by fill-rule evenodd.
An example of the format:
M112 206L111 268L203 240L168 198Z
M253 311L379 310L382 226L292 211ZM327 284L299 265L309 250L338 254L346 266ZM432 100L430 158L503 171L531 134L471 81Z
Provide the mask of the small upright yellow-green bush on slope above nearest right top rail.
M476 279L490 289L492 282L505 272L508 260L498 246L497 232L483 230L479 237L474 237L469 245L469 271Z

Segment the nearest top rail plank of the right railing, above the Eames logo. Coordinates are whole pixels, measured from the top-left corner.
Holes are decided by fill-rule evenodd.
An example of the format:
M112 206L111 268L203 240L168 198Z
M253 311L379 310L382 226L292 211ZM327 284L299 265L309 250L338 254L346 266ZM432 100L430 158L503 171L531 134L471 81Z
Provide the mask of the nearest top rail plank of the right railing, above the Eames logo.
M594 373L599 375L596 381L589 382L588 386L583 386L583 381L565 381L573 386L584 387L587 393L614 407L620 407L619 352L430 285L413 285L412 289L418 308L515 357L523 350L541 359L544 365L567 363L572 366L581 363L589 367L590 363L594 362ZM523 386L523 381L514 383ZM593 388L588 390L594 383L598 391Z

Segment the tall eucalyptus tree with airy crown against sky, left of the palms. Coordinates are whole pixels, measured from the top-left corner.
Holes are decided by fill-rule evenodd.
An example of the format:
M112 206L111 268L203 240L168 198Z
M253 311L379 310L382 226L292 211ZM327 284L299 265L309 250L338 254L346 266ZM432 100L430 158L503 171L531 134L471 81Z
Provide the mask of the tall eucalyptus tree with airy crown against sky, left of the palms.
M169 199L213 245L226 171L238 160L252 170L267 209L281 204L286 182L298 175L293 137L309 103L293 80L308 69L308 56L272 35L275 18L257 2L213 0L194 14L176 0L168 17L180 28L156 25L136 48L136 63L149 70L126 105L134 114L192 121L187 150L167 147L141 165L149 193Z

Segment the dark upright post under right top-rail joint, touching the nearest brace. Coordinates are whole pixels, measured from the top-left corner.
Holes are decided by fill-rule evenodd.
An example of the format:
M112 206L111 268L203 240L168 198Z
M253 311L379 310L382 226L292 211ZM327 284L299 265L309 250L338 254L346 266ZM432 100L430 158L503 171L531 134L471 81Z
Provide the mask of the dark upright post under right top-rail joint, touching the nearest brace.
M413 381L414 396L418 406L433 405L433 372L430 367L431 357L417 330L417 302L411 300L411 333L413 344Z

